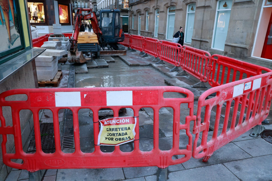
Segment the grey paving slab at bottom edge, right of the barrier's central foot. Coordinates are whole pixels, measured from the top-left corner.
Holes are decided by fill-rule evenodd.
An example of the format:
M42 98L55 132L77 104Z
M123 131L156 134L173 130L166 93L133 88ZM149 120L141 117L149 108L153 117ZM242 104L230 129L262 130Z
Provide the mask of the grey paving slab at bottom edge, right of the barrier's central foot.
M167 181L196 181L196 180L221 180L239 181L239 179L229 171L223 164L210 165L206 167L193 168L171 172L168 174Z

